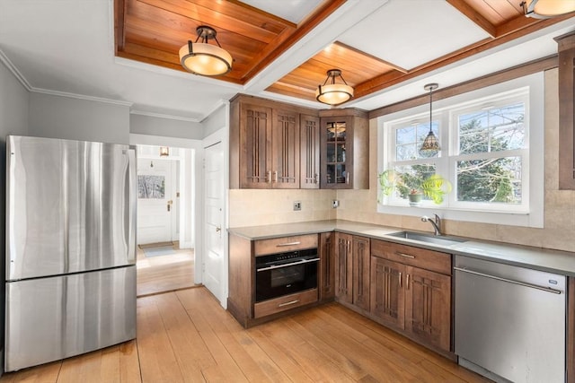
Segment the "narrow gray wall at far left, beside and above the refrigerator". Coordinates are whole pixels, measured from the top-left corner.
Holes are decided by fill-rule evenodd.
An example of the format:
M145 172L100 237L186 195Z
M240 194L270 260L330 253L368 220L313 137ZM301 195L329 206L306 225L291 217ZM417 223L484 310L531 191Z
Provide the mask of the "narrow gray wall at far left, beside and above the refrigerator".
M4 275L6 135L28 133L29 92L0 62L0 275ZM4 361L4 283L0 283L0 361ZM0 375L4 368L0 366Z

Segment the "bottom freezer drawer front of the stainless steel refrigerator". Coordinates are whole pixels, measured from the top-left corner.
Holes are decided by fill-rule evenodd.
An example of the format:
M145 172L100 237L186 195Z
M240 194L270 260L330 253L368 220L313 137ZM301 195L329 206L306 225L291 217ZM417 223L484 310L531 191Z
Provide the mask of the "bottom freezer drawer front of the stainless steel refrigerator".
M136 266L6 283L5 370L136 337Z

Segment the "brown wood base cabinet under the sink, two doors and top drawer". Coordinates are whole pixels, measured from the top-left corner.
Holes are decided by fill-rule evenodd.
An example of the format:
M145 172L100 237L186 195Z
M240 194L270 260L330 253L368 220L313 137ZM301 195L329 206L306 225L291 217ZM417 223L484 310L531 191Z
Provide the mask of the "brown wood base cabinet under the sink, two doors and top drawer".
M451 256L374 239L371 314L439 351L451 351Z

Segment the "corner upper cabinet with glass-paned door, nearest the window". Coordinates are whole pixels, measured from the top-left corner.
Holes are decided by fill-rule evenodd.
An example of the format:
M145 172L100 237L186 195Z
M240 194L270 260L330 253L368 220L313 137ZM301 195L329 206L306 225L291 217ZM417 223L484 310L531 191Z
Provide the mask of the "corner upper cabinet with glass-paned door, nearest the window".
M369 124L358 109L320 111L322 188L369 187Z

